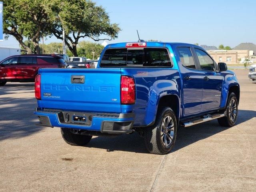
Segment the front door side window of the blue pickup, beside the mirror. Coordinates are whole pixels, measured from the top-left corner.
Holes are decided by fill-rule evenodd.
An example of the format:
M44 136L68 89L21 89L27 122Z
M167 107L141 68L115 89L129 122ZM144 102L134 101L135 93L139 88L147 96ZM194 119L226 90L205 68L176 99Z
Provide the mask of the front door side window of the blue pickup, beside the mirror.
M206 52L197 48L195 48L195 51L200 63L201 70L216 71L212 58L210 58Z

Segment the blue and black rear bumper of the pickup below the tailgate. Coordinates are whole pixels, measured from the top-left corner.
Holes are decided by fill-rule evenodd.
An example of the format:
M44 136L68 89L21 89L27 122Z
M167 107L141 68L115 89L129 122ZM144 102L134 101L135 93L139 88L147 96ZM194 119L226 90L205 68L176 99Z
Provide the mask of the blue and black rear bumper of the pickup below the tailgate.
M41 110L41 108L36 108L34 114L39 118L40 123L36 124L39 126L100 131L110 134L132 133L135 117L134 113L84 113L62 110ZM73 114L79 117L86 117L86 122L74 122Z

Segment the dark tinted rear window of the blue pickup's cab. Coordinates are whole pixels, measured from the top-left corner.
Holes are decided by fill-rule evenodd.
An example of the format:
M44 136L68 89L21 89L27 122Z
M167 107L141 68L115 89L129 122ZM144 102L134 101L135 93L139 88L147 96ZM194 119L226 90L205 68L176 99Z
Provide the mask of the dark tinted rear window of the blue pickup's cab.
M166 48L114 48L105 51L100 66L163 67L172 64Z

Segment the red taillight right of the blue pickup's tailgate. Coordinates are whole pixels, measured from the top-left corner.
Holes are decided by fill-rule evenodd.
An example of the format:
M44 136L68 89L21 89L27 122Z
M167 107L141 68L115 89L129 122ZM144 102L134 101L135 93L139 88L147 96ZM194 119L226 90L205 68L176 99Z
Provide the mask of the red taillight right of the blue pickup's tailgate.
M135 103L135 83L134 78L121 76L121 104Z

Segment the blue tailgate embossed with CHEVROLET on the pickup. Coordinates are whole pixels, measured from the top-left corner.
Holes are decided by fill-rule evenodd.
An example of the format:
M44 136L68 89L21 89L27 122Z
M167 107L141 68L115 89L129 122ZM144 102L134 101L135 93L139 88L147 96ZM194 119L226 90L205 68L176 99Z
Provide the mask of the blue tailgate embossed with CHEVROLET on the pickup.
M120 68L111 70L43 68L39 74L41 74L42 108L121 112Z

